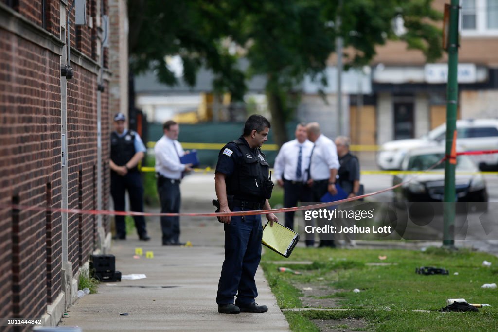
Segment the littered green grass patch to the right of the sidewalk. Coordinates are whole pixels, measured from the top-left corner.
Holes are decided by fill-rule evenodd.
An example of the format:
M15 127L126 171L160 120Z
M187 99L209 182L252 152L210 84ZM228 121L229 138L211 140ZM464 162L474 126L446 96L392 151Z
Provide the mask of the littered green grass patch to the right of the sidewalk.
M378 256L384 255L387 259L379 260ZM317 298L337 299L338 308L349 309L338 312L307 311L293 315L321 320L364 318L373 329L379 331L449 331L462 327L473 331L496 331L498 326L498 290L481 288L485 283L496 282L497 270L482 266L484 260L492 262L492 266L498 265L498 258L490 254L440 248L428 248L425 252L296 248L291 259L310 260L313 263L275 265L272 261L282 258L270 251L266 251L262 257L265 276L280 308L298 308L302 293L295 285L303 287L318 283L328 290ZM367 265L377 262L392 265ZM290 267L302 274L278 272L279 266ZM450 274L416 274L415 268L421 266L442 267L448 269ZM458 272L458 275L454 275L454 272ZM361 292L354 293L355 288ZM436 312L446 306L449 298L464 298L469 303L488 303L492 307L479 309L477 313Z

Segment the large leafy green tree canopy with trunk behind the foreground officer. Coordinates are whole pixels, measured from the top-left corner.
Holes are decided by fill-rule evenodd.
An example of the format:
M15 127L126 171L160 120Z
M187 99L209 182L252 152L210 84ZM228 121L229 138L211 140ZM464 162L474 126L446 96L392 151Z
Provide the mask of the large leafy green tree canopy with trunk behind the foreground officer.
M339 6L339 1L330 0L220 0L216 5L208 0L147 1L143 10L155 19L150 19L145 32L143 23L136 24L138 11L129 10L130 31L139 25L134 34L140 36L134 45L130 36L130 54L135 70L152 64L158 78L168 84L174 81L161 62L165 55L182 56L189 84L195 83L195 70L203 63L216 73L217 89L236 98L244 94L245 77L264 75L272 128L281 145L287 140L285 123L294 115L289 97L305 75L317 78L326 69L337 36L344 38L345 49L350 50L345 54L347 66L368 64L375 47L388 39L420 49L429 61L440 57L441 33L433 21L441 13L431 3L347 0ZM338 15L340 27L334 24ZM393 31L395 18L404 22L402 35ZM170 42L147 43L150 29L161 31ZM245 73L237 66L237 57L224 47L227 40L245 50L243 56L249 60Z

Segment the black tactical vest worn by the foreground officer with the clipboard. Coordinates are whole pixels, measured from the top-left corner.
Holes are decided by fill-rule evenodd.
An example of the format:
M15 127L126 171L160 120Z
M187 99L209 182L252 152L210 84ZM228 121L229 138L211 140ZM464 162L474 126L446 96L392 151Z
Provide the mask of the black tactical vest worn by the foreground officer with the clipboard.
M261 150L257 148L254 154L243 139L233 141L242 152L242 161L226 179L227 195L233 195L239 200L263 202L270 198L273 189L273 183L269 179L270 166L264 160L265 155Z

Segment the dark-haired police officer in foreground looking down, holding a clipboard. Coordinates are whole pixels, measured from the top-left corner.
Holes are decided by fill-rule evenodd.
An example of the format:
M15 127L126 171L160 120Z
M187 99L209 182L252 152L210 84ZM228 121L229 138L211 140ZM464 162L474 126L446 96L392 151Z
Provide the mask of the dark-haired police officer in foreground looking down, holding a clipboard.
M216 165L216 196L220 212L270 209L268 199L273 183L269 165L261 152L268 140L270 122L261 115L251 115L238 140L225 145ZM265 215L273 225L274 214ZM261 217L220 217L225 227L225 261L218 284L218 312L262 313L268 310L254 302L257 297L254 275L261 259ZM237 300L234 304L235 296Z

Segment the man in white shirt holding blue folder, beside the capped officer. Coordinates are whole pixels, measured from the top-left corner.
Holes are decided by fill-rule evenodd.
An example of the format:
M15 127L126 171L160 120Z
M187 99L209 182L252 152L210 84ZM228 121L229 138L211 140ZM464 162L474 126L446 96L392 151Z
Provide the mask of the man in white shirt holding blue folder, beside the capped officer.
M161 213L179 213L181 205L180 182L185 172L191 171L192 164L182 164L180 157L185 154L176 139L180 126L168 120L163 126L164 135L154 147L157 192L161 201ZM181 245L180 217L161 217L162 245Z

